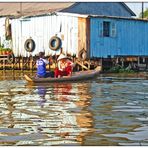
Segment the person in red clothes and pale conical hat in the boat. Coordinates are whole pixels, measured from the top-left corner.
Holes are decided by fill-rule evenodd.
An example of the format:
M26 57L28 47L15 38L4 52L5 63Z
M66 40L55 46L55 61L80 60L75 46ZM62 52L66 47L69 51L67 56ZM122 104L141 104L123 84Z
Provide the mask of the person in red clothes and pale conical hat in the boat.
M69 57L64 54L60 54L57 59L58 67L54 70L54 77L62 77L62 76L71 76L74 63L71 61Z

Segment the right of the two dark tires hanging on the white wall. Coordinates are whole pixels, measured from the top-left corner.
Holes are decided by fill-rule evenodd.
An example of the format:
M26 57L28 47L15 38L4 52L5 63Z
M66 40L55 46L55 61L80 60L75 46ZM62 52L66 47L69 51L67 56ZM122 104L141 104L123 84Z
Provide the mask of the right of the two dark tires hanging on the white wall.
M61 39L57 36L51 37L51 39L49 40L49 48L51 50L57 50L60 48L60 46L61 46Z

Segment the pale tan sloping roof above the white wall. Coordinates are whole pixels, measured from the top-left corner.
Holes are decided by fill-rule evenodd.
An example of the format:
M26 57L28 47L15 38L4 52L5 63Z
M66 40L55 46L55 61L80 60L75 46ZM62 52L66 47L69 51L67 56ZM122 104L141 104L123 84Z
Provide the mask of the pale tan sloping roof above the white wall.
M34 16L52 13L67 8L74 3L65 2L0 2L0 17Z

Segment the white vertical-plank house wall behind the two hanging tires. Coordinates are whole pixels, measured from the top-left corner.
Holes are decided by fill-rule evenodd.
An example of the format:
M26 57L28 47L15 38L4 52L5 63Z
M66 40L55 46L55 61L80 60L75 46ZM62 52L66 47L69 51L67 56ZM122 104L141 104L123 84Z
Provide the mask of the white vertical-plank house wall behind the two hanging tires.
M13 52L16 57L35 56L40 51L45 51L45 55L60 54L60 50L53 51L49 48L49 40L55 34L62 40L62 48L65 53L77 54L77 17L65 15L36 16L14 19L11 24ZM36 44L35 50L31 53L24 49L24 43L30 37Z

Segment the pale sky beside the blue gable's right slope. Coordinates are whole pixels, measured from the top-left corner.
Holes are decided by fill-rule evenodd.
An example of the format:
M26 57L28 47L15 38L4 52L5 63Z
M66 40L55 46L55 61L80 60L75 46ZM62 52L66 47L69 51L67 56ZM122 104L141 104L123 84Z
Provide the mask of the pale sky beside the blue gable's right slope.
M140 12L142 12L142 3L141 2L125 2L125 4L137 15L139 16ZM144 10L146 10L146 8L148 8L148 2L144 2Z

